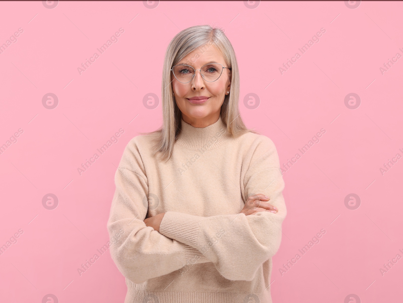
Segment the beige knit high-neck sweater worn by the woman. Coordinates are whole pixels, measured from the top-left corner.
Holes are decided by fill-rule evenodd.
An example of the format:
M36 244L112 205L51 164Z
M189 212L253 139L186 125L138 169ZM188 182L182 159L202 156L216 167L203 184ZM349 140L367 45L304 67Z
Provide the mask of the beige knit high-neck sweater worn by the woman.
M107 227L125 303L272 302L271 258L287 214L274 143L232 138L221 117L204 128L181 123L168 162L151 156L154 135L139 135L116 170ZM257 193L278 213L240 214ZM158 213L160 232L143 222Z

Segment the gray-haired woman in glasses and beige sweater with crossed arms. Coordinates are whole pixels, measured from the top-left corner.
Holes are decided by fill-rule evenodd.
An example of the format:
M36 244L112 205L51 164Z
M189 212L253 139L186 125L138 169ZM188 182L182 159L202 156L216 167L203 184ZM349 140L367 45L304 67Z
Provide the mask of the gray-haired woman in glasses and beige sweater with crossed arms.
M274 143L245 127L238 99L224 33L178 33L164 61L163 126L131 139L115 174L107 227L125 303L271 302L284 181Z

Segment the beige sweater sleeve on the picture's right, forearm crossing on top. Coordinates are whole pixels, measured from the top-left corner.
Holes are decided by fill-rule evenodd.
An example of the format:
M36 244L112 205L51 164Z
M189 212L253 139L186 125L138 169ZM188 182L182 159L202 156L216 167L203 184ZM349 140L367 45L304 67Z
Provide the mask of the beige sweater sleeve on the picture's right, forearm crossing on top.
M202 252L229 280L253 280L258 268L277 252L287 214L274 143L261 135L256 145L243 178L244 201L253 194L265 194L277 213L199 217L168 211L160 225L160 233Z

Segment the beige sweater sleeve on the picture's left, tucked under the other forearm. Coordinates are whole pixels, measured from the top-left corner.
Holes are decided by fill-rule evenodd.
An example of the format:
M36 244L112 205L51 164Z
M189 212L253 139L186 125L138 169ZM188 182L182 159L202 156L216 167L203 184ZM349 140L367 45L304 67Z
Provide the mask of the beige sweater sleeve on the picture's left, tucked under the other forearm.
M143 283L187 264L210 262L196 248L145 225L147 177L136 145L131 143L123 153L114 179L116 190L107 223L112 260L133 283Z

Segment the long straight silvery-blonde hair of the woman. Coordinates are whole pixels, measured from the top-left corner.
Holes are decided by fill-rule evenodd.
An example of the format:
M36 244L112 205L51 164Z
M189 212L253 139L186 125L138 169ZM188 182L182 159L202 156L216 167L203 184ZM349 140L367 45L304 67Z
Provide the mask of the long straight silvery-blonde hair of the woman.
M238 137L247 132L258 133L247 129L239 113L239 70L235 51L224 31L210 25L195 25L179 32L169 43L162 70L161 104L162 126L156 131L140 133L155 134L152 138L154 155L160 153L161 160L168 160L172 155L174 143L181 132L182 113L177 106L172 90L172 74L170 69L179 63L187 54L201 48L202 52L214 45L225 59L227 67L231 68L231 91L225 95L220 115L226 129L232 137ZM197 55L196 55L197 58Z

